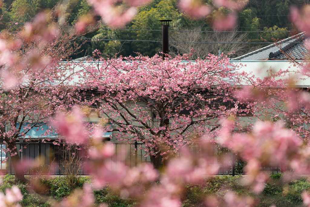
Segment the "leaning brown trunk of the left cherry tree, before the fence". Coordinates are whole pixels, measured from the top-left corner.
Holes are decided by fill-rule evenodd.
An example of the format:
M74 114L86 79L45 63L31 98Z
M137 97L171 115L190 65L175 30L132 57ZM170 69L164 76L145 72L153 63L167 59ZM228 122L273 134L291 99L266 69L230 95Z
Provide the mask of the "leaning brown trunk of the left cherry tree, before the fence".
M20 169L21 160L18 155L16 141L7 142L7 148L9 149L10 156L11 156L11 163L13 165L15 171L15 178L20 181L26 181L25 179L25 172L23 169Z

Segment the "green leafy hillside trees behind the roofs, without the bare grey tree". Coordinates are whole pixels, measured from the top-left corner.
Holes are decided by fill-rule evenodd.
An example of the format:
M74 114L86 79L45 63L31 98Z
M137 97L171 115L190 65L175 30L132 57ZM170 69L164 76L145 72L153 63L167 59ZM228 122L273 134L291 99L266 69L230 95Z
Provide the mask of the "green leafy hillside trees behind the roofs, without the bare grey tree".
M8 8L11 3L12 7L7 13L7 17L14 19L22 15L22 21L29 21L35 16L38 11L42 9L51 9L59 1L58 0L6 0L4 7L0 11L3 13L5 8ZM126 25L127 29L150 29L161 30L160 19L171 19L170 30L193 30L193 27L202 27L202 30L210 30L210 17L218 12L228 12L224 8L215 8L215 11L206 19L194 19L188 17L186 14L179 11L177 8L177 0L153 0L149 4L139 7L138 14L133 18L132 22ZM212 0L205 0L204 2L213 4ZM63 3L63 2L60 2ZM307 3L305 0L249 0L246 7L238 12L239 31L260 31L250 32L244 39L245 42L261 42L267 39L273 42L274 39L287 38L288 33L285 30L292 29L290 20L288 19L290 7L292 5L302 6ZM76 24L79 17L86 15L92 11L91 6L87 0L73 0L63 5L65 16L69 24ZM143 30L110 30L103 29L107 25L101 25L101 28L86 35L86 38L108 38L108 39L123 39L123 40L154 40L161 41L161 31L143 31ZM287 28L286 28L287 27ZM185 29L184 29L185 28ZM264 32L265 31L265 32ZM274 33L266 31L277 31ZM282 32L283 31L283 32ZM205 34L208 35L208 34ZM82 42L80 42L82 43ZM249 44L246 49L236 51L236 55L242 55L246 52L253 51L261 47L261 44ZM81 44L81 48L71 58L79 58L82 56L92 55L95 49L99 49L104 57L114 56L116 52L121 51L118 55L122 56L136 56L137 52L144 56L153 56L159 53L162 49L161 43L156 42L127 42L123 41L91 41ZM177 48L170 48L171 51L177 52Z

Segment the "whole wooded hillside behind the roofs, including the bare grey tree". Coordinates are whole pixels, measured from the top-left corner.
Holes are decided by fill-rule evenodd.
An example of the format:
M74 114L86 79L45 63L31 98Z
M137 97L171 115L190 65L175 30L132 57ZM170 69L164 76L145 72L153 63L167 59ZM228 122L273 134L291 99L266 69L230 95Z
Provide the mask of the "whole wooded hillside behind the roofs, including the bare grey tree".
M51 9L59 3L58 0L5 0L1 12L5 13L1 27L5 27L11 20L19 18L19 24L30 21L39 11ZM79 17L92 12L92 7L86 0L72 0L62 2L67 12L69 26L77 23ZM207 3L212 5L211 0ZM72 59L91 55L95 49L99 49L107 56L115 53L122 56L137 56L139 52L143 56L154 56L161 52L161 43L144 41L110 41L97 39L116 40L153 40L161 41L161 23L158 20L171 19L170 42L243 42L249 44L194 44L194 43L170 43L170 55L175 56L189 53L193 47L201 58L208 53L217 55L218 51L228 54L234 51L230 57L236 57L247 52L254 51L274 42L274 39L283 39L299 33L290 23L289 14L292 5L301 7L308 4L308 0L249 0L243 10L236 13L238 23L232 31L217 32L212 26L213 18L219 13L226 14L229 11L224 7L216 8L205 18L191 18L177 7L176 0L154 0L147 5L138 8L138 14L123 28L111 28L101 24L97 29L89 32L80 40L84 44L79 52L71 56ZM22 15L22 16L21 16ZM100 16L96 16L100 20ZM2 21L3 21L2 20ZM71 25L70 25L71 24ZM131 30L134 29L134 30ZM157 30L157 31L151 31ZM179 32L173 32L178 30ZM181 31L187 32L181 32ZM213 32L188 32L188 31L213 31ZM238 32L241 31L241 32ZM270 32L277 31L277 32ZM292 32L287 32L292 31ZM264 39L264 40L263 40ZM196 56L193 58L197 58Z

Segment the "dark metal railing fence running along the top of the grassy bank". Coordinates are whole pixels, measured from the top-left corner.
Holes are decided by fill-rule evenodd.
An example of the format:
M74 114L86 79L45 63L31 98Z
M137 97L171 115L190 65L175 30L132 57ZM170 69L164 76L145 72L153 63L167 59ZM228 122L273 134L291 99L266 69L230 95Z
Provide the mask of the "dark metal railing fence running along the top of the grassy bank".
M61 175L61 169L64 167L62 161L65 159L68 151L66 148L68 145L65 143L61 143L60 145L54 145L53 143L45 143L45 142L36 142L36 143L16 143L17 149L19 151L19 156L22 162L27 163L29 160L35 160L38 157L41 157L41 160L45 166L47 166L49 170L49 174L52 175ZM143 145L142 143L135 143L134 145L128 143L114 143L111 147L115 147L116 156L111 158L113 163L116 163L115 167L117 167L117 162L125 163L130 167L137 167L140 163L150 162L148 156L145 156L145 151L139 145ZM137 153L134 153L135 150ZM204 155L217 155L219 157L219 169L218 175L237 175L244 174L244 167L246 166L246 162L241 160L238 155L229 151L228 149L219 147L218 145L214 145L209 149L199 149L189 148L189 150L194 154L199 154L200 156ZM85 155L85 150L81 149L78 151L81 156ZM84 154L83 154L84 153ZM11 164L10 156L7 154L7 161L2 163L1 172L6 174L14 174L14 168ZM182 155L180 155L182 156ZM4 158L1 158L1 162ZM84 162L89 162L89 159L84 159ZM163 164L163 163L162 163ZM212 161L210 160L210 164ZM280 165L267 165L261 167L260 169L265 173L283 173L289 171L286 166ZM30 170L25 170L26 174L31 174ZM82 175L89 175L89 170L86 167L82 167L81 169Z

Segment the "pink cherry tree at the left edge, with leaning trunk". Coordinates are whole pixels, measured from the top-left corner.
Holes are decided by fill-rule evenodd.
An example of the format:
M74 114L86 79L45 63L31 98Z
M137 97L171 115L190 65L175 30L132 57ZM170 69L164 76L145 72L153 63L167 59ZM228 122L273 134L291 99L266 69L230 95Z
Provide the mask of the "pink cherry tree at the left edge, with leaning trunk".
M76 52L76 38L83 33L60 27L53 11L38 14L33 22L11 22L1 32L0 60L0 136L15 169L15 177L24 180L16 170L20 157L16 139L33 138L30 130L43 130L45 123L60 109L70 106L74 87L66 86L68 70L60 60ZM52 132L47 129L45 137ZM42 137L43 138L43 137Z

